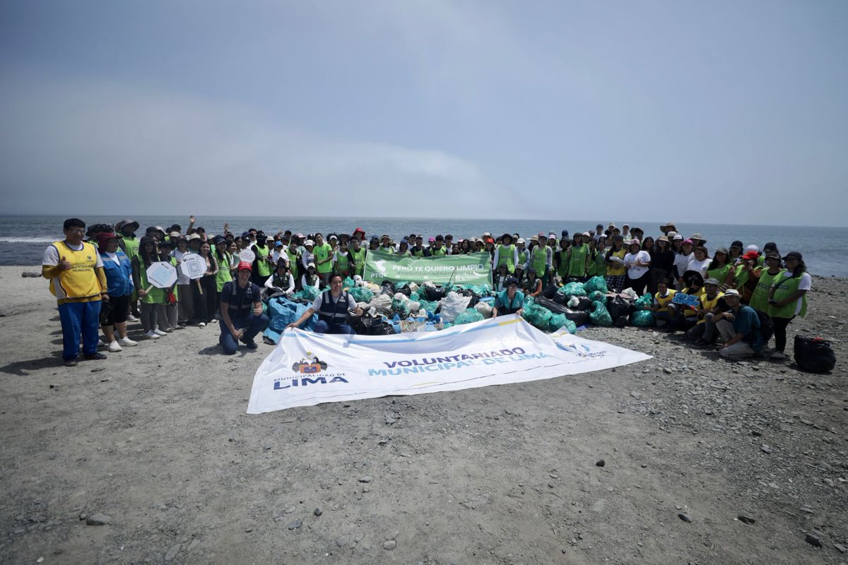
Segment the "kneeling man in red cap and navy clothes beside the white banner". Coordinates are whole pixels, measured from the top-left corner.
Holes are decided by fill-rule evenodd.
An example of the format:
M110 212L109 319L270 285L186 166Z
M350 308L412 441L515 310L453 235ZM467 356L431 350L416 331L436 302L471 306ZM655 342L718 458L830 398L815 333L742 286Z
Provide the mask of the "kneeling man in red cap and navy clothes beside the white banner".
M250 280L252 270L247 261L238 263L238 278L227 282L220 291L219 341L227 355L237 352L239 340L248 349L256 349L254 337L268 327L259 285Z

